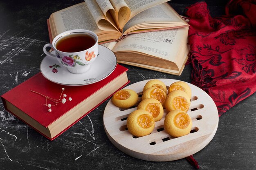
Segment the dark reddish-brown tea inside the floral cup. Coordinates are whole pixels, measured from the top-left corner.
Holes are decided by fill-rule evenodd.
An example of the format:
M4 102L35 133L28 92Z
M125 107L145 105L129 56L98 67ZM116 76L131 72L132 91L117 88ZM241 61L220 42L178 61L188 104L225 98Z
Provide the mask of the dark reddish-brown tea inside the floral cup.
M96 40L92 35L84 33L72 33L66 35L56 42L56 49L66 53L74 53L89 49Z

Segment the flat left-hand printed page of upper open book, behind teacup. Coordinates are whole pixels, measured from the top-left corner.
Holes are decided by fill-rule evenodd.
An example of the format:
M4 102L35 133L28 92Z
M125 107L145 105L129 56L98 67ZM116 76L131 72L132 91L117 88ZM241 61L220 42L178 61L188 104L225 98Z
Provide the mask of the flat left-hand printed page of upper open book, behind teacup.
M87 29L94 33L101 32L84 2L55 12L52 16L56 26L56 35L72 29Z

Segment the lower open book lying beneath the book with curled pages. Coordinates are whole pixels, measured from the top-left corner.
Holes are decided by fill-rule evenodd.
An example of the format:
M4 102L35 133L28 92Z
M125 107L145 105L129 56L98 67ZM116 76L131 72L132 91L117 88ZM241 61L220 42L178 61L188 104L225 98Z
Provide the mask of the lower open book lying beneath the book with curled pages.
M121 41L102 44L117 62L181 75L188 59L188 27L128 35Z

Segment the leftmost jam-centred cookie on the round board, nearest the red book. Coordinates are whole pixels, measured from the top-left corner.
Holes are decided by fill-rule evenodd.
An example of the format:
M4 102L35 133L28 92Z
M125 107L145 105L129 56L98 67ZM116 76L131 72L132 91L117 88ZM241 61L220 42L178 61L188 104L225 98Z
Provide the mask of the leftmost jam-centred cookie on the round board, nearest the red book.
M138 102L138 94L130 89L123 89L117 91L113 97L112 102L119 108L129 108Z

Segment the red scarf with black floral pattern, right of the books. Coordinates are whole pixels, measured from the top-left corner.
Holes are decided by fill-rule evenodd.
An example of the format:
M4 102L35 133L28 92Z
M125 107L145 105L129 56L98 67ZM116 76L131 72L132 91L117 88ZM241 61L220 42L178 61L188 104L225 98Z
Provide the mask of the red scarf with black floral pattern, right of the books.
M211 96L220 116L256 91L256 0L231 0L219 18L205 2L187 9L191 83Z

